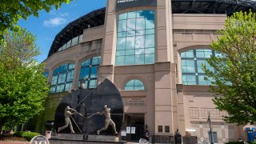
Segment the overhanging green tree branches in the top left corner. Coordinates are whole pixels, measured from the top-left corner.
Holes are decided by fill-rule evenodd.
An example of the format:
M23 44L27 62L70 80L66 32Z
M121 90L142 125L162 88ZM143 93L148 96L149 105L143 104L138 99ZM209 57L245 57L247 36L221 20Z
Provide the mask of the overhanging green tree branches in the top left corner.
M0 39L6 30L16 30L16 24L21 18L26 19L30 15L38 17L39 10L49 12L53 7L57 10L63 2L72 0L0 0Z

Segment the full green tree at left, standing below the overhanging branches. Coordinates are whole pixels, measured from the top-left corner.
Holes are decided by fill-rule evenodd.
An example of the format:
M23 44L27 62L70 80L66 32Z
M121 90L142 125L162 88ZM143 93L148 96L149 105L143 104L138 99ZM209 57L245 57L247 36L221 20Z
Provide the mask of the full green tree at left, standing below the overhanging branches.
M0 45L0 131L2 126L17 126L43 110L49 93L43 64L33 34L18 29L4 34Z

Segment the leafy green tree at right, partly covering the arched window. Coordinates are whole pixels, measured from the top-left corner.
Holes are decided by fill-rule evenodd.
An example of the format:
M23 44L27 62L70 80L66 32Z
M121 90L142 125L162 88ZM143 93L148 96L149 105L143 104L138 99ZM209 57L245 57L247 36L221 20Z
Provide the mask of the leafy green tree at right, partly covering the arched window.
M224 30L210 46L222 56L206 61L215 71L204 70L212 82L214 104L226 110L226 122L240 125L256 121L256 22L255 14L235 13L226 18Z

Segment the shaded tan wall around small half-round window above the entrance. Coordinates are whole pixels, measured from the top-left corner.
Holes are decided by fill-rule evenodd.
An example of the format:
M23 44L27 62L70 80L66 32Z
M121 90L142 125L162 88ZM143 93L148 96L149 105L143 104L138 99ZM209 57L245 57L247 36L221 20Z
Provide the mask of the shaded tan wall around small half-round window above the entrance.
M145 90L124 90L126 82L130 79L142 81ZM155 118L154 89L152 89L154 87L154 65L115 66L114 84L121 91L126 114L144 114L145 125L153 133Z

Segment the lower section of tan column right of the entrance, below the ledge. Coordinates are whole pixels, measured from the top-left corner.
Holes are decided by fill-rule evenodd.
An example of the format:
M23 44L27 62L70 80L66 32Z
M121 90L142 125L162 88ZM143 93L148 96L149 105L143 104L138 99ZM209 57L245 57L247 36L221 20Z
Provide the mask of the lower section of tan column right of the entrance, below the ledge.
M172 99L170 86L170 62L156 62L154 64L154 113L155 134L165 133L165 126L170 126L173 134ZM158 126L162 126L163 132L158 133Z

